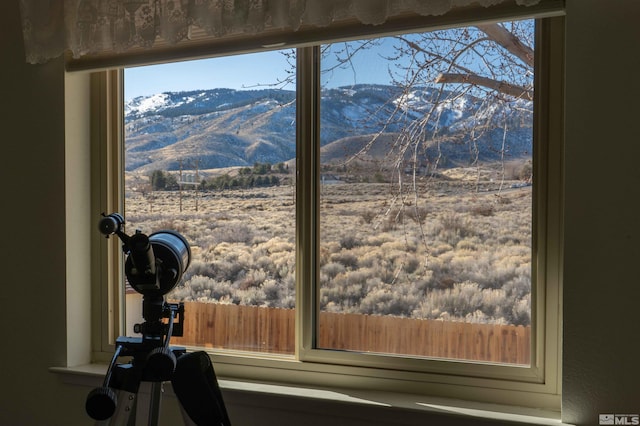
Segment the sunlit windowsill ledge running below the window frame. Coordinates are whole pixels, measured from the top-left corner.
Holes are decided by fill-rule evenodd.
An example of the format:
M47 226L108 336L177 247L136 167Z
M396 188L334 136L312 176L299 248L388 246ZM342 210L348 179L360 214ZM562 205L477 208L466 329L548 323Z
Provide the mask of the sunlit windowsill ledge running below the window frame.
M102 385L106 369L107 366L104 364L87 364L77 367L52 367L50 371L59 374L67 384L97 387ZM371 420L380 420L379 410L371 409L379 407L393 412L393 416L402 413L403 417L405 414L415 418L429 417L430 415L455 416L469 422L475 420L498 421L506 424L567 425L560 421L558 412L532 408L380 391L305 388L228 379L219 379L219 384L225 393L225 400L231 405L235 399L242 399L242 404L246 405L247 398L255 400L257 405L263 405L259 402L260 399L269 398L270 408L288 410L292 406L291 400L296 399L296 404L293 406L297 407L297 411L304 410L305 404L303 402L305 401L313 402L315 409L318 406L328 405L350 407L356 411L368 408L360 413L373 413L369 414ZM169 398L174 397L169 385L164 395ZM227 395L229 396L228 400ZM278 401L280 401L281 407L274 405L278 404Z

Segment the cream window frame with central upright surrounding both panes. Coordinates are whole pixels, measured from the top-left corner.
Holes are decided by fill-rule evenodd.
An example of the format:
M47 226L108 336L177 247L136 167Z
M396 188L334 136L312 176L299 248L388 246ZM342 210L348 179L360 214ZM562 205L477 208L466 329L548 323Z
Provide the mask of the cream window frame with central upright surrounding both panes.
M466 23L468 25L468 23ZM210 351L222 377L437 395L560 408L564 19L536 23L534 247L531 366L411 359L314 348L318 281L319 48L298 48L296 353ZM417 30L413 30L416 31ZM375 36L372 35L372 36ZM362 37L359 37L362 38ZM336 40L327 40L334 42ZM241 49L239 49L241 50ZM92 76L92 212L122 211L122 70ZM313 119L312 117L315 117ZM311 142L311 143L309 143ZM108 361L124 328L122 253L95 232L93 358Z

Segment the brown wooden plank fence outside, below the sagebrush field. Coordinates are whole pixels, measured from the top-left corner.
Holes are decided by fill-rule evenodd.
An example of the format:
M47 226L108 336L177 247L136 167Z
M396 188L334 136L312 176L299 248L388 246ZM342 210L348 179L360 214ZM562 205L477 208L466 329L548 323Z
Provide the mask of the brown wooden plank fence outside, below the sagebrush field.
M293 353L295 311L187 302L184 335L172 343ZM322 312L318 347L526 365L531 328Z

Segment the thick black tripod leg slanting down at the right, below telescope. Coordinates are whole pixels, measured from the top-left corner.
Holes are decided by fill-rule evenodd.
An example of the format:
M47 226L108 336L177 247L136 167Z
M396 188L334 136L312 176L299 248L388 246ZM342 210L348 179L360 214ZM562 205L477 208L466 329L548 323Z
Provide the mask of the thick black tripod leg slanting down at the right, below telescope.
M206 352L180 356L171 384L180 404L197 425L231 426L213 364Z

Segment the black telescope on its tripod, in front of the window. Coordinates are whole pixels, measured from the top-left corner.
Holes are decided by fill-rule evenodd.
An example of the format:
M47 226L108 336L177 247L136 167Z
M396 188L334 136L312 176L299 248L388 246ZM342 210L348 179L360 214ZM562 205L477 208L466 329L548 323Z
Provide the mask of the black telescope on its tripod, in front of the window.
M98 230L107 238L117 235L122 242L127 282L142 294L144 322L133 328L142 337L116 339L103 386L87 396L87 414L99 424L124 425L132 420L144 424L146 420L148 425L157 425L162 383L170 380L186 425L230 426L209 355L204 351L187 354L184 347L169 345L172 335L183 334L184 304L167 303L164 296L189 267L189 243L175 231L146 235L136 230L127 235L124 225L119 213L103 214ZM119 357L130 357L130 362L119 364ZM147 411L138 413L141 382L151 383L151 396Z

